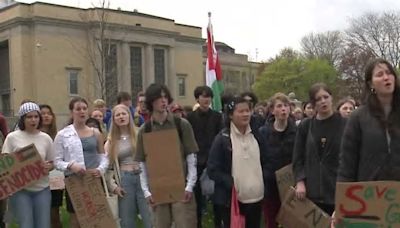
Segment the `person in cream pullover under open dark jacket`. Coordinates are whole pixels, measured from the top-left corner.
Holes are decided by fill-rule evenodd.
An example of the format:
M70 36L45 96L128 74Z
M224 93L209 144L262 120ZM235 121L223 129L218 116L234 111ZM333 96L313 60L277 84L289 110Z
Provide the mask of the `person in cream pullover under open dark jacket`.
M227 113L226 128L216 136L207 163L207 173L215 181L213 203L223 215L223 223L215 227L230 227L233 187L246 227L260 227L265 143L258 131L250 128L250 106L245 99L233 98Z

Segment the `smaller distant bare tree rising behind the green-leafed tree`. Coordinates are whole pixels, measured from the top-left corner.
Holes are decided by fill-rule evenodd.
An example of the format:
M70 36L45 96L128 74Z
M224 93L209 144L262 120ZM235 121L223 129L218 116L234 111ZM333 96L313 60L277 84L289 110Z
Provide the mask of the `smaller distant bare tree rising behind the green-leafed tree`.
M339 31L310 33L300 41L303 54L306 58L324 59L335 67L339 62L342 44L342 33Z

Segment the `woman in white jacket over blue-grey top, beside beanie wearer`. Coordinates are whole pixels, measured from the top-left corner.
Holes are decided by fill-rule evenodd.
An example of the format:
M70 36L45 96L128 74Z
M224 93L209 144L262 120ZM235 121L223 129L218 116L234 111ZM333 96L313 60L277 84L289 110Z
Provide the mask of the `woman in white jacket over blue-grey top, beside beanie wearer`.
M100 178L109 164L104 153L103 135L97 129L86 126L89 112L88 103L84 98L72 98L69 110L72 123L59 131L54 139L56 152L54 165L63 171L66 177L88 173ZM66 202L70 214L70 227L80 227L68 190Z

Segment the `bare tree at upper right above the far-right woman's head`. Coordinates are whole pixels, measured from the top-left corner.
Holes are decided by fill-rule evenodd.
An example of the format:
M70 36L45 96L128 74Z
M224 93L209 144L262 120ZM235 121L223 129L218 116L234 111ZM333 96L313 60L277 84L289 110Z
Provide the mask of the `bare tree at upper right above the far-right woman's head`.
M400 64L400 11L366 13L350 20L346 41L388 60L395 68Z

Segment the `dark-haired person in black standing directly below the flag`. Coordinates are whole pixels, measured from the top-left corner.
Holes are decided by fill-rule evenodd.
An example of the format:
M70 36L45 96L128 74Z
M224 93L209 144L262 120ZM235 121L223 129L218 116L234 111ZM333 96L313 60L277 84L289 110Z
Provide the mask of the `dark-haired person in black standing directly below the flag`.
M196 111L188 114L187 120L192 125L193 133L196 138L199 152L197 153L197 180L203 173L207 165L208 154L214 137L222 130L222 115L210 108L213 92L208 86L198 86L194 90L194 97L199 104ZM200 181L197 181L194 194L197 203L197 227L202 227L202 210L206 208L206 200L201 191ZM214 213L215 214L215 213ZM220 221L218 214L214 216L215 223Z

